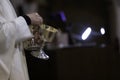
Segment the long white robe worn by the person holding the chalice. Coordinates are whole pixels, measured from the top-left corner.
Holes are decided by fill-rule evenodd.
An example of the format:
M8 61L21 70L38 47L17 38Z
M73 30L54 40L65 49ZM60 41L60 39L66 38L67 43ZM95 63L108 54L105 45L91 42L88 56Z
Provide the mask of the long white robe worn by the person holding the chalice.
M29 80L22 41L32 34L9 0L0 0L0 80Z

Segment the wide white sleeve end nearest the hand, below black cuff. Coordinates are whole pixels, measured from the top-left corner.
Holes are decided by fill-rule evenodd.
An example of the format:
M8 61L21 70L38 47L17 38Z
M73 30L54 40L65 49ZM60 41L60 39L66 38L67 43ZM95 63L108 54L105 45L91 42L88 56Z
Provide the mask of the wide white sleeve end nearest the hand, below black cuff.
M16 30L17 30L17 37L16 41L24 41L26 39L29 39L33 37L33 35L30 32L29 26L27 25L25 19L23 17L18 17L15 19L16 24Z

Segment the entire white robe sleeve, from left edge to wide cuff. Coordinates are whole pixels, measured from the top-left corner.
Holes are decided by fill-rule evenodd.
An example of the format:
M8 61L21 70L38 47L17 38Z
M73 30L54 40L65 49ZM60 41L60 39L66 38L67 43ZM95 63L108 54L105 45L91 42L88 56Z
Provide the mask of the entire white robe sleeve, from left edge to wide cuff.
M0 17L0 44L4 44L0 46L2 51L11 46L11 41L21 42L31 37L33 35L23 17L8 22Z

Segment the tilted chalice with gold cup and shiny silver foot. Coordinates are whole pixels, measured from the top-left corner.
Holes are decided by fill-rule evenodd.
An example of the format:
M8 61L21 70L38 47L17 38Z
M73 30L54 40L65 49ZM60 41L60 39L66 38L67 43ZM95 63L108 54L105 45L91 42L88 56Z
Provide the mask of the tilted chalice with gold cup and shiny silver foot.
M49 42L52 42L55 34L58 32L58 30L52 26L46 25L46 24L42 24L40 25L40 29L39 29L39 35L40 35L40 40L41 43L39 43L39 46L36 46L37 49L39 48L39 52L36 51L32 51L31 54L34 57L40 58L40 59L44 59L44 60L48 60L49 56L45 53L44 46Z

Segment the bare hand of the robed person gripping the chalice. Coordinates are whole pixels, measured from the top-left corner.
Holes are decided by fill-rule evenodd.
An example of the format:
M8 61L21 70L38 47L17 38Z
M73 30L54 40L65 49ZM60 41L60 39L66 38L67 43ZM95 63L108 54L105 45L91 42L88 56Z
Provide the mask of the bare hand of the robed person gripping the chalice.
M32 25L39 26L43 23L43 18L37 12L27 14L27 16L31 19Z

